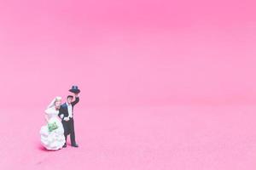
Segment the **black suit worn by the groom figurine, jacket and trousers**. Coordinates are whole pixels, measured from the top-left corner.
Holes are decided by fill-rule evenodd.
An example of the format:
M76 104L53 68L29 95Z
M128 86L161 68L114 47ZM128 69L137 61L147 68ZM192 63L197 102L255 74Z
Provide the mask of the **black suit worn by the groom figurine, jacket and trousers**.
M76 97L76 99L71 103L72 109L73 109L73 106L76 105L77 103L79 103L79 97ZM61 115L63 115L63 116L61 116ZM61 105L61 108L59 111L59 116L62 117L61 122L64 127L64 136L65 136L66 142L67 142L67 135L70 134L71 144L72 145L76 144L73 116L72 116L72 118L69 118L69 121L64 121L64 118L69 116L68 109L67 109L67 103Z

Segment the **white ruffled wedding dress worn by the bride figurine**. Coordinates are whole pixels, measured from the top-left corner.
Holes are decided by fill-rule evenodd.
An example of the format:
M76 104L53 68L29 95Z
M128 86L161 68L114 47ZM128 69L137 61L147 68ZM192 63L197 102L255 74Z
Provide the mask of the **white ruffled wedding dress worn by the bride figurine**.
M64 128L58 117L59 111L55 110L55 107L48 108L45 113L48 116L49 123L54 123L58 128L49 132L48 125L41 127L41 144L47 150L59 150L65 144Z

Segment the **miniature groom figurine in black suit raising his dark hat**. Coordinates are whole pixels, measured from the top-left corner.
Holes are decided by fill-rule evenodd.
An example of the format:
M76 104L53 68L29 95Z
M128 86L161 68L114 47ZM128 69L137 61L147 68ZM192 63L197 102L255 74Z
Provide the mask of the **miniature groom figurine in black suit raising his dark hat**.
M61 122L64 127L64 136L65 136L65 144L63 148L67 147L67 135L70 134L71 145L73 147L79 147L79 144L76 143L75 140L75 132L74 132L74 123L73 123L73 106L79 103L79 93L80 90L77 86L73 86L70 90L75 95L75 100L73 101L73 95L67 96L67 102L61 105L59 110L59 116L61 117Z

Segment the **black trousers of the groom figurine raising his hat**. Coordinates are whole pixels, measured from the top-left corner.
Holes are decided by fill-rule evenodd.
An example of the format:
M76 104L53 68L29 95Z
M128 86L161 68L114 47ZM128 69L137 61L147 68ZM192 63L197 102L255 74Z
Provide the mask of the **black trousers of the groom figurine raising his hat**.
M69 121L62 121L64 127L64 136L67 143L67 135L70 134L71 144L76 144L75 133L74 133L74 123L73 118L69 118Z

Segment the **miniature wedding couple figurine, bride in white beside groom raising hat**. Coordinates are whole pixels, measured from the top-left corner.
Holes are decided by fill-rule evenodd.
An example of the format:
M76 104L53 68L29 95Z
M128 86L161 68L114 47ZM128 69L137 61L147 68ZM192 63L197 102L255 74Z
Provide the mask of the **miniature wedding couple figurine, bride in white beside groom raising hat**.
M55 97L45 110L47 124L41 127L41 144L47 150L60 150L67 147L67 135L70 134L71 145L79 147L75 140L73 106L79 103L80 90L73 86L70 90L74 94L67 96L67 102L61 105L61 97ZM61 120L60 120L61 119Z

